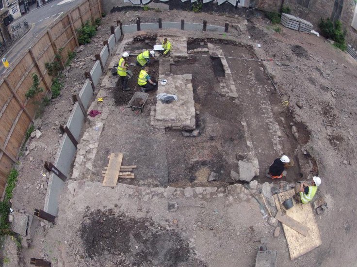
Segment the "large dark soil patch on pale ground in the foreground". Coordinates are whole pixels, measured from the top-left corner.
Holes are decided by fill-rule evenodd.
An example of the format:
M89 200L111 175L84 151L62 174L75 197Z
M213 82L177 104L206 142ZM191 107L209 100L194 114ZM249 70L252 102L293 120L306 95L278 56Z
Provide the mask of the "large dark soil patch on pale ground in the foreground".
M204 266L179 233L149 218L96 210L85 218L80 236L87 256L101 266L108 260L124 266Z

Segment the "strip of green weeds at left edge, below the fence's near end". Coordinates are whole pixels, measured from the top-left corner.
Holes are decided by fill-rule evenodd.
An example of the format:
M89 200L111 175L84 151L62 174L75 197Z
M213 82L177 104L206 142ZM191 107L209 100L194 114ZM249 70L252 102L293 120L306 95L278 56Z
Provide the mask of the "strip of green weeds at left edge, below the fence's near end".
M18 172L15 169L10 171L10 174L7 179L7 186L5 188L5 197L4 201L0 202L0 234L6 235L10 234L10 223L8 221L8 216L10 213L10 204L9 201L13 197L13 190L16 186Z

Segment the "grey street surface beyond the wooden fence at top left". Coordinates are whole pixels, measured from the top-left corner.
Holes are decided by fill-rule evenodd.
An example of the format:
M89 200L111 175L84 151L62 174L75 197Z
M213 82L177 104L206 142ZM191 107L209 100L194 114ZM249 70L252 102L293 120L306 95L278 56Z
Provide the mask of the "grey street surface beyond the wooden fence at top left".
M16 58L32 46L35 38L45 31L50 23L59 19L66 11L78 5L82 0L55 0L39 8L34 9L29 14L22 16L19 20L26 19L32 25L28 31L13 47L11 47L3 57L10 63L14 63ZM1 66L0 78L3 78L6 69Z

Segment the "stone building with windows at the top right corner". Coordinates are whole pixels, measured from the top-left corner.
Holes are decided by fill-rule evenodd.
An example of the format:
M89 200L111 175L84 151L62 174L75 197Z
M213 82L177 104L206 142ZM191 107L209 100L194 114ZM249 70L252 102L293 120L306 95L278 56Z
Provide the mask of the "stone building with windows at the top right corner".
M259 0L264 11L279 11L282 5L292 9L292 15L310 21L318 29L321 18L340 19L347 31L347 43L357 47L357 10L354 0Z

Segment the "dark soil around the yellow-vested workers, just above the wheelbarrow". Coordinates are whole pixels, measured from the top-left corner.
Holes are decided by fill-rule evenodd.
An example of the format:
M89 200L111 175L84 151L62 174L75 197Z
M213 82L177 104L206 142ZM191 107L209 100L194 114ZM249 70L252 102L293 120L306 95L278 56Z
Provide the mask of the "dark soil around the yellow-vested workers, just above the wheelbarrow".
M130 61L135 62L136 59L130 58ZM149 70L148 74L152 77L151 80L153 82L155 82L157 80L157 78L159 77L159 61L157 61L157 60L151 61L149 68L150 68L150 70ZM116 87L113 90L114 102L117 106L127 105L129 103L131 97L133 96L133 94L136 91L140 90L140 86L138 85L138 77L139 77L139 73L140 73L140 70L142 69L142 67L141 66L130 66L129 69L133 73L133 76L131 77L131 79L128 80L128 86L130 88L130 91L122 90L119 76L118 76L118 82L116 83ZM156 103L155 95L151 94L152 92L156 92L156 90L150 92L150 96L146 100L146 104Z

